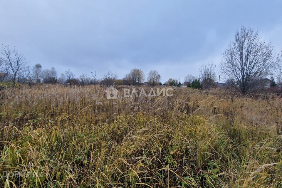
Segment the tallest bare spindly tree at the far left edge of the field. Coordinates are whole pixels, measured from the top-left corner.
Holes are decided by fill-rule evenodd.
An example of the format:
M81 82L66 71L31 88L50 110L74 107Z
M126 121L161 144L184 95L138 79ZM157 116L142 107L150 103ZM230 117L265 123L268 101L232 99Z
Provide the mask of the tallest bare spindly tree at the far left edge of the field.
M24 73L26 72L26 58L23 54L16 51L14 48L11 50L9 46L3 46L1 51L1 63L5 66L7 76L13 82L14 87L20 87Z

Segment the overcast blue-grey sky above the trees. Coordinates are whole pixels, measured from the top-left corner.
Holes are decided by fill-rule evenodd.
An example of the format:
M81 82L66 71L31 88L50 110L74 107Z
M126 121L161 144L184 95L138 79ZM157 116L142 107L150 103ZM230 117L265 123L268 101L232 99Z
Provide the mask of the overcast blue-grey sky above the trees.
M259 29L282 47L282 1L0 0L0 43L16 46L43 69L107 71L122 78L132 68L157 70L162 82L217 66L241 26Z

